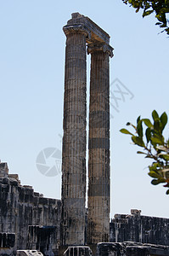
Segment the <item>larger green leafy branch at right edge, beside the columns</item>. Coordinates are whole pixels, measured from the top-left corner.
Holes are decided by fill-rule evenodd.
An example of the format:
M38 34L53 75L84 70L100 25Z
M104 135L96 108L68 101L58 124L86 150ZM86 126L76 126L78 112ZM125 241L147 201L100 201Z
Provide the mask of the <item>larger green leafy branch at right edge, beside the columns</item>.
M129 134L132 137L132 143L143 148L144 151L138 151L138 154L144 154L145 158L153 160L149 166L149 176L153 177L151 183L157 185L166 183L164 187L169 188L169 139L163 137L163 131L167 123L166 112L159 114L154 110L152 112L153 123L149 119L137 119L137 125L131 125L134 134L127 129L121 129L124 134ZM145 126L145 131L143 128ZM166 195L169 194L169 189Z

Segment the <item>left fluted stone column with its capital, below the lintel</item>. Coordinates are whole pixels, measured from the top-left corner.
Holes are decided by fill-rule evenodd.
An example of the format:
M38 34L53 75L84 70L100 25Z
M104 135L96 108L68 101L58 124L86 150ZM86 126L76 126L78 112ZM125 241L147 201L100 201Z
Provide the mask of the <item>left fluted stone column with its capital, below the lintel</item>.
M65 96L62 152L63 245L85 243L86 36L82 26L64 26Z

